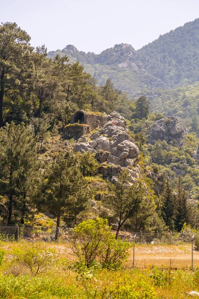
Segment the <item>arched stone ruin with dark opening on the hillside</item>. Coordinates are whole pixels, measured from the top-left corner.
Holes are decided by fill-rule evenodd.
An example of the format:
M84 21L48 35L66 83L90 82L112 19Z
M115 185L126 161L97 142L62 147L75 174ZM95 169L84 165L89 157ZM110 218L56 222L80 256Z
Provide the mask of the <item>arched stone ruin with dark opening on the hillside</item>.
M71 115L71 123L63 130L63 138L78 140L92 130L102 128L107 123L107 115L100 112L77 110Z

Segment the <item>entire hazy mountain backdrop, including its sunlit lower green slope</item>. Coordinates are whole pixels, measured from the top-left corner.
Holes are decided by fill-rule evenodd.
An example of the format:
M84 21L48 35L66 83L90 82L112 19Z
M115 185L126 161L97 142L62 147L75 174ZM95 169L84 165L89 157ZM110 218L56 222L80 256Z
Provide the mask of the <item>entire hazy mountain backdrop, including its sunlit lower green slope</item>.
M193 117L199 118L199 18L137 51L125 43L100 54L68 45L49 52L48 57L57 54L79 61L100 85L110 78L115 88L132 98L145 94L153 112L176 116L188 127Z

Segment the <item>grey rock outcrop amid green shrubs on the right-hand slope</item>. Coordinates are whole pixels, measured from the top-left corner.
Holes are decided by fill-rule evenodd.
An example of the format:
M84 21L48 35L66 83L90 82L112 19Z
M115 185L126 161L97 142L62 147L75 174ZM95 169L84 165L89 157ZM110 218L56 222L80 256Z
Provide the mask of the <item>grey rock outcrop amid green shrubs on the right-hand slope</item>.
M178 124L177 118L170 117L154 121L154 126L148 131L147 139L151 144L155 144L157 140L165 140L167 143L176 140L178 143L183 143L187 134L187 129Z

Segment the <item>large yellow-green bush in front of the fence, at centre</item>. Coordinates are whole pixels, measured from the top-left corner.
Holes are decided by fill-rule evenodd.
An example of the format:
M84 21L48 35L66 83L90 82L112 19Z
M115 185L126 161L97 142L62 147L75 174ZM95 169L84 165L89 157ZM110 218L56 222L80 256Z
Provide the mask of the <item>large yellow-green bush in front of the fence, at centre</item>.
M107 220L102 218L83 221L74 228L71 237L74 255L88 268L96 262L104 268L120 267L129 247L129 242L115 239Z

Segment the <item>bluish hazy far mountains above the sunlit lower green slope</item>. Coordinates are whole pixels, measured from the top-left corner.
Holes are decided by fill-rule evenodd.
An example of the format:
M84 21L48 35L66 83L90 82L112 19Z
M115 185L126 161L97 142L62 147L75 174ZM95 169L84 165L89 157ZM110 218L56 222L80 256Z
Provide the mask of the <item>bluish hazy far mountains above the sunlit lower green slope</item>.
M153 88L172 88L199 81L199 19L178 27L141 49L116 44L100 54L79 51L73 45L51 51L48 57L67 55L78 60L104 84L110 78L114 86L131 95Z

